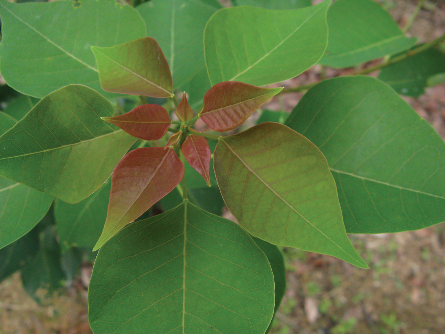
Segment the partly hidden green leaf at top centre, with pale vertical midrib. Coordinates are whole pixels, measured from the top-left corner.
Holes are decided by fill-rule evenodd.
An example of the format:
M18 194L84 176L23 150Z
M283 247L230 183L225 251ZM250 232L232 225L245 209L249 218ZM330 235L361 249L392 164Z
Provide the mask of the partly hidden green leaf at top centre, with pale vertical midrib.
M152 0L136 8L169 62L175 90L185 90L191 104L210 88L202 34L218 8L217 0Z

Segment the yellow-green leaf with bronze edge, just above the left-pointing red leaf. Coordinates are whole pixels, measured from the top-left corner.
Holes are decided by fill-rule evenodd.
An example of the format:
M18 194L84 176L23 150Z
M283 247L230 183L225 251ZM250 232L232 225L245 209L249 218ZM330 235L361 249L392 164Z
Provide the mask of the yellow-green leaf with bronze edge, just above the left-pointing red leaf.
M92 46L101 87L107 92L173 96L170 69L158 42L151 37L109 48Z

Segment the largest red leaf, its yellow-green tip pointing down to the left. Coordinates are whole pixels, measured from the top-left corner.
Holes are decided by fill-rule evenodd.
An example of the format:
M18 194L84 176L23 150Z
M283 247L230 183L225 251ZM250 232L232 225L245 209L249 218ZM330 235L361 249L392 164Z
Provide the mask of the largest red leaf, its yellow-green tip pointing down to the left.
M166 196L183 175L184 165L171 148L143 147L125 155L113 171L107 219L94 249Z

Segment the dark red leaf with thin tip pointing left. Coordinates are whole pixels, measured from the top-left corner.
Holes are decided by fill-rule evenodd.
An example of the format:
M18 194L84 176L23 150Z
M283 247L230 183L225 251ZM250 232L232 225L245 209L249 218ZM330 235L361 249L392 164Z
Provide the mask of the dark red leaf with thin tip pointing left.
M157 104L143 104L126 114L101 118L144 140L162 138L171 124L167 110Z

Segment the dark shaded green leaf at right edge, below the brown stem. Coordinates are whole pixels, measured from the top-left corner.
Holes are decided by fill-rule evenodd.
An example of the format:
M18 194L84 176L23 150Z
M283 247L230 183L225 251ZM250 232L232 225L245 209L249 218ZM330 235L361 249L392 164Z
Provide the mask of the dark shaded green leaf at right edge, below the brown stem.
M425 93L429 77L441 72L445 72L445 53L428 49L385 67L379 79L397 93L417 98Z

